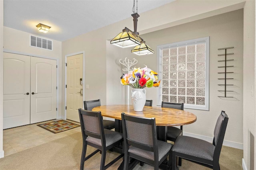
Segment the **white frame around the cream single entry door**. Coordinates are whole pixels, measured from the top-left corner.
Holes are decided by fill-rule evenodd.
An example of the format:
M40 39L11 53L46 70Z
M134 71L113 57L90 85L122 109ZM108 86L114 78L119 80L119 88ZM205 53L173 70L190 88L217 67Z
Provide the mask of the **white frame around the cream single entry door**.
M83 54L83 101L84 101L84 98L85 98L85 84L84 84L84 51L80 51L80 52L77 52L77 53L72 53L72 54L68 54L68 55L65 55L65 85L64 85L64 88L65 88L65 106L64 106L64 110L65 110L65 115L64 115L64 119L66 120L67 119L67 110L66 110L66 106L67 106L67 88L66 88L66 84L67 84L67 67L66 67L66 64L67 64L67 57L70 57L70 56L73 56L73 55L78 55L78 54ZM83 107L84 107L84 104L83 104Z

